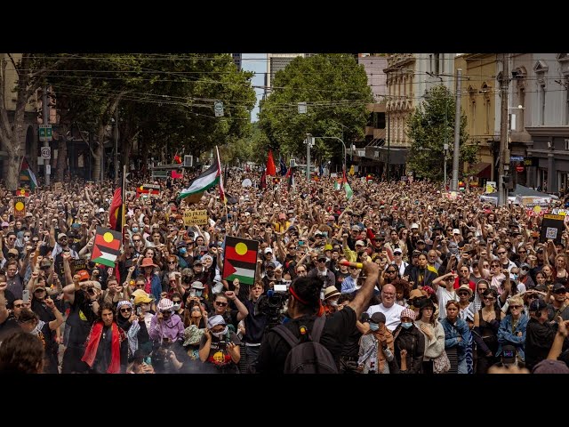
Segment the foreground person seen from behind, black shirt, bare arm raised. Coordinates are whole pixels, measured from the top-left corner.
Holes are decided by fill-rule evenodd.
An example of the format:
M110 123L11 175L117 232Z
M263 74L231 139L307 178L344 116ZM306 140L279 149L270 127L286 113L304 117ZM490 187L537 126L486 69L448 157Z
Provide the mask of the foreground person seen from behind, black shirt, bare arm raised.
M373 287L377 283L379 267L371 261L364 262L365 284L357 292L353 301L349 302L343 310L339 310L326 318L324 332L320 342L333 355L336 365L340 367L340 357L343 342L347 340L356 326L361 315L373 294ZM312 329L317 316L324 315L320 292L322 281L318 278L298 278L289 287L288 317L291 318L285 326L297 337L301 337L301 326ZM260 354L257 361L257 372L260 374L282 374L284 361L290 346L274 330L268 331L260 345Z

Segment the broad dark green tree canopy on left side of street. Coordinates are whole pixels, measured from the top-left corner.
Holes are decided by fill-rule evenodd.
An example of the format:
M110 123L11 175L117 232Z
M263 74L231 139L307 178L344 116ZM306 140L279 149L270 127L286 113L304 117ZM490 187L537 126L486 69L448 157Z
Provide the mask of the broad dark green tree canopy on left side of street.
M198 156L250 133L255 103L252 73L229 54L81 54L49 82L84 130L108 124L107 106L119 93L119 122L129 120L151 152ZM222 101L224 116L214 117Z

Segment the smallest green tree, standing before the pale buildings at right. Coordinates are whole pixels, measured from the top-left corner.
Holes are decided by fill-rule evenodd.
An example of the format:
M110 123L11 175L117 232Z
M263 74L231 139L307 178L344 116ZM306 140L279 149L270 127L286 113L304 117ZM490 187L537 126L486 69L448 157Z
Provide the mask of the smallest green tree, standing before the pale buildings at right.
M454 113L455 101L445 85L433 87L407 119L407 132L412 139L407 157L407 170L418 178L443 181L445 170L445 142L448 144L447 179L452 175L454 151ZM461 114L460 161L471 165L476 160L477 147L466 145L469 138L466 132L467 117Z

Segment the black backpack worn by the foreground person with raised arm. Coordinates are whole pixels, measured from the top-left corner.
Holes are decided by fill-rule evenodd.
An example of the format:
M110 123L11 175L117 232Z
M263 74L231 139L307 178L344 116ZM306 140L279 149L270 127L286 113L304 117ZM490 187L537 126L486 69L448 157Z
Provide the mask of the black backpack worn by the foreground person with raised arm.
M320 343L325 321L325 316L316 319L309 341L301 341L286 326L275 327L276 334L291 346L284 361L284 374L338 374L332 353Z

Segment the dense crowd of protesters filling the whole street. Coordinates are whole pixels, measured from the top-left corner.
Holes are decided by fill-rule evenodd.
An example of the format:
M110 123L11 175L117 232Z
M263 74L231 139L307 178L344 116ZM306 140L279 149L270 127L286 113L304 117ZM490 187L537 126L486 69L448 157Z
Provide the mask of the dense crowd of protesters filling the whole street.
M125 192L114 268L92 253L116 183L38 188L25 214L0 188L0 370L283 373L282 324L323 327L341 374L569 372L566 222L541 241L543 212L429 181L352 177L348 198L335 178L232 169L196 204L188 179L146 182ZM225 279L228 236L258 242L251 284Z

